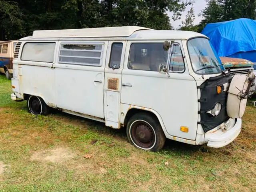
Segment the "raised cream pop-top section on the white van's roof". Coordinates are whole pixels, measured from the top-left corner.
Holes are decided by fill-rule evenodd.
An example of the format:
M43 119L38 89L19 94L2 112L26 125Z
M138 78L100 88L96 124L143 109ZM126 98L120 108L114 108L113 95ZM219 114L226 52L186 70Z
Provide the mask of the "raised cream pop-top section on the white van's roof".
M137 26L103 27L64 30L38 30L32 38L88 38L88 37L128 37L138 30L152 30Z

